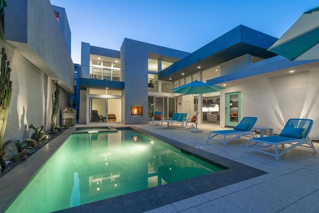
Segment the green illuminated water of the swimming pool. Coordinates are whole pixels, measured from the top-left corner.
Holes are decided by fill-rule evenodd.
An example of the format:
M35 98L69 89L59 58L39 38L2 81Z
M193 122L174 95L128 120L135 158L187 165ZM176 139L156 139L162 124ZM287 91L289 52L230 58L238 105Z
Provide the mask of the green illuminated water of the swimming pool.
M133 130L76 133L6 212L54 212L221 170Z

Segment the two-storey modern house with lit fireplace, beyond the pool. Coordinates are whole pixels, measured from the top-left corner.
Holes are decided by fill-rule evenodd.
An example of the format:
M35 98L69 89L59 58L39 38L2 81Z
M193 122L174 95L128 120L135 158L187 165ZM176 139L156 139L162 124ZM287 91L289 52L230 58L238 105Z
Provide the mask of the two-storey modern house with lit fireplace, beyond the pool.
M258 126L276 134L289 118L310 118L310 136L319 138L319 62L292 62L267 51L277 40L239 25L193 53L127 38L120 51L82 43L79 122L143 124L154 111L191 117L197 99L199 123L232 127L256 116ZM195 79L224 89L197 97L171 92ZM207 113L217 122L207 122Z

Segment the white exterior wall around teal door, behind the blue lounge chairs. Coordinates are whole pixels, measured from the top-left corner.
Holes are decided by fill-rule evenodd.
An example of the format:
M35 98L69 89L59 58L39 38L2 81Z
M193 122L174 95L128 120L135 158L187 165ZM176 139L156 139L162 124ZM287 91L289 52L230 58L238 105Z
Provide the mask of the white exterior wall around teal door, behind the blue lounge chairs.
M287 73L286 76L227 87L220 92L221 115L225 115L225 93L241 92L241 115L258 117L256 126L272 127L279 134L290 118L314 120L310 132L319 138L319 72ZM225 126L221 116L220 126Z

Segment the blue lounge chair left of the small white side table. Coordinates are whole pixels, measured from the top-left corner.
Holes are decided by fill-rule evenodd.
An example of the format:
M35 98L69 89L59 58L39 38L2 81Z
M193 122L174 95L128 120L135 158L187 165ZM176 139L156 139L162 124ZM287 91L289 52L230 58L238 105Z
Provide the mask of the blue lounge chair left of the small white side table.
M256 117L244 117L240 123L234 127L233 130L220 130L220 131L211 131L208 134L207 143L208 141L215 141L218 143L226 144L240 138L242 136L248 137L257 137L256 133L253 131L253 127L257 121ZM216 139L216 136L223 136L223 140ZM226 140L226 136L231 136L232 138Z

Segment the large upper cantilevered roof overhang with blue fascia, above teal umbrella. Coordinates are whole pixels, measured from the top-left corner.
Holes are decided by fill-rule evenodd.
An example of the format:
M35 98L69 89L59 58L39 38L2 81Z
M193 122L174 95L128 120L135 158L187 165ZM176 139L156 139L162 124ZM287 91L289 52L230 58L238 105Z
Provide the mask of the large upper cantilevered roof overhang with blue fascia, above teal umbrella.
M245 54L262 58L277 54L267 49L278 40L273 36L239 25L188 56L159 72L160 80L175 81ZM198 68L200 67L200 68Z

